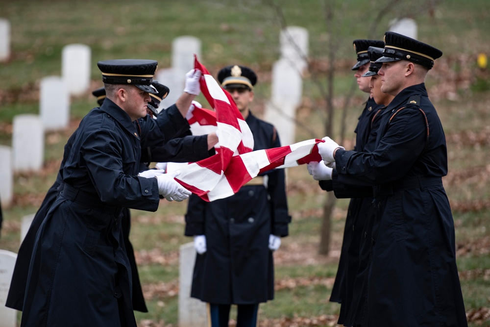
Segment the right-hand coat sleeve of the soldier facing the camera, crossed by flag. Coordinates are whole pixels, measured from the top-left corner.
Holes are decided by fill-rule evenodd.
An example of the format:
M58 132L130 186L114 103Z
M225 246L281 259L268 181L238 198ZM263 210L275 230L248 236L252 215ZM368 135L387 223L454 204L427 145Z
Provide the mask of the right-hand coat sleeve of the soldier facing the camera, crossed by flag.
M275 132L275 131L274 131ZM271 148L279 148L281 142L276 133ZM277 236L288 236L288 225L291 216L288 212L288 199L286 196L286 176L284 169L273 169L268 174L267 190L270 197L270 208L272 217L271 233Z

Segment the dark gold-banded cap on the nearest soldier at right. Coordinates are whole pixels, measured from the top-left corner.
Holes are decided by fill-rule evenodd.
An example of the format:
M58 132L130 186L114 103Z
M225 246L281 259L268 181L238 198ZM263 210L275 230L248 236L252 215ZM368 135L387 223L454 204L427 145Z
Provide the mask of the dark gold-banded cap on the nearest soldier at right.
M411 37L395 32L385 33L385 49L383 57L377 62L408 60L431 69L434 60L441 57L442 51Z

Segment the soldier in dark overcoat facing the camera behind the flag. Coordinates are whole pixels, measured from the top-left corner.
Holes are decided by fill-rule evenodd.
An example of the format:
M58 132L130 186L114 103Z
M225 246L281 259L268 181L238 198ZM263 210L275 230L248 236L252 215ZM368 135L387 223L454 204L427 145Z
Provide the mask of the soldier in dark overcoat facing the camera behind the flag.
M249 111L255 73L232 65L218 80L250 127L253 150L280 147L274 126ZM195 236L197 251L191 296L209 303L212 327L228 326L232 304L238 305L237 326L255 327L259 303L274 297L272 252L291 221L284 170L253 178L229 198L206 202L192 195L185 220L185 235Z

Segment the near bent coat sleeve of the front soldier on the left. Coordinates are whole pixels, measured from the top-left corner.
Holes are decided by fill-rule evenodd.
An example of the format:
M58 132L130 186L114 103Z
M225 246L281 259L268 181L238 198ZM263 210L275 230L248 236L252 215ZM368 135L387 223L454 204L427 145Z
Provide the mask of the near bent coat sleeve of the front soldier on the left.
M125 175L124 164L135 164L131 150L123 149L110 128L89 131L80 148L83 163L102 202L127 208L156 211L160 201L156 178Z

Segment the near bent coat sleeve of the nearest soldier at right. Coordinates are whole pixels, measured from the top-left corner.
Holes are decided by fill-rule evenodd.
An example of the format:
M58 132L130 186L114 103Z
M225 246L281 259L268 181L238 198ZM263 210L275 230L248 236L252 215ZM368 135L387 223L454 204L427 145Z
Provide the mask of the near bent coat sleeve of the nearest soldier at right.
M425 146L426 128L422 120L417 109L406 108L392 120L374 151L337 150L338 173L354 176L370 185L403 178Z

